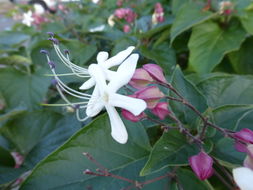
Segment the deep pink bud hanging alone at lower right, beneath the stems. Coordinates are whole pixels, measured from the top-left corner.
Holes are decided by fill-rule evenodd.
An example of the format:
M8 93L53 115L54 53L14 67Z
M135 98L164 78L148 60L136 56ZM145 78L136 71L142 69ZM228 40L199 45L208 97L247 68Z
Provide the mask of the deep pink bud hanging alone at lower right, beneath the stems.
M205 180L213 174L213 159L201 151L198 155L189 158L189 163L200 180Z

